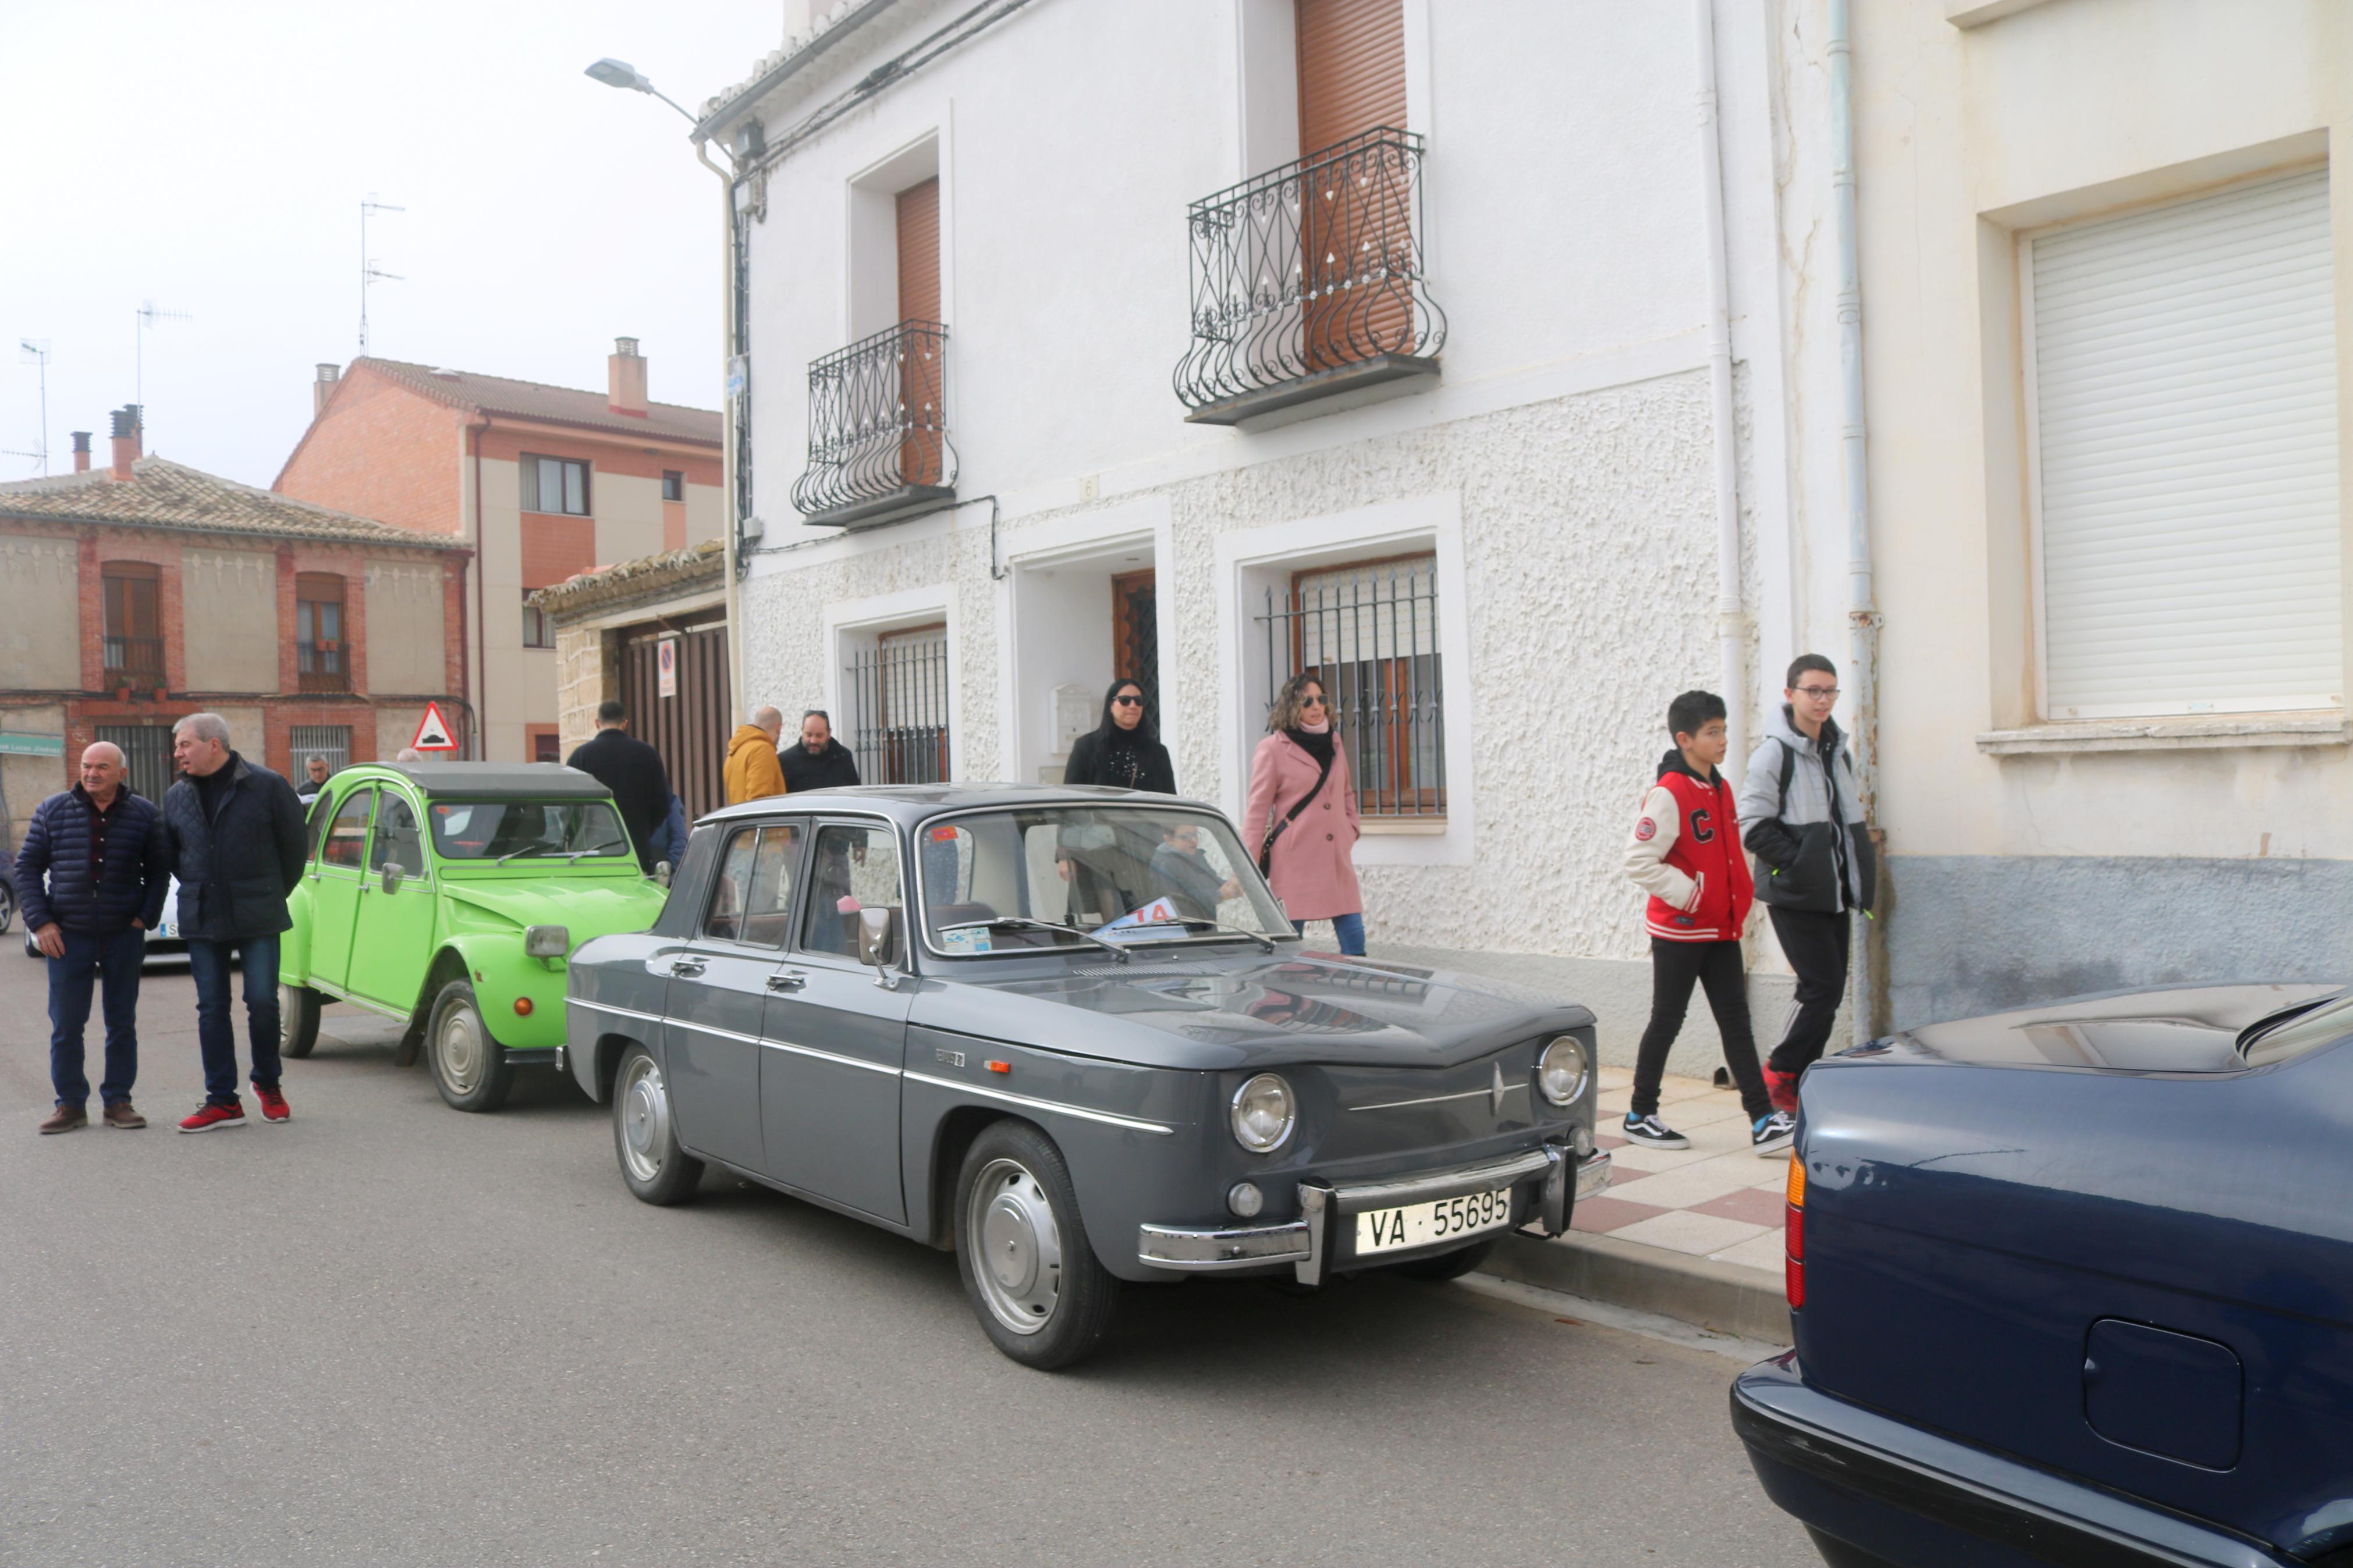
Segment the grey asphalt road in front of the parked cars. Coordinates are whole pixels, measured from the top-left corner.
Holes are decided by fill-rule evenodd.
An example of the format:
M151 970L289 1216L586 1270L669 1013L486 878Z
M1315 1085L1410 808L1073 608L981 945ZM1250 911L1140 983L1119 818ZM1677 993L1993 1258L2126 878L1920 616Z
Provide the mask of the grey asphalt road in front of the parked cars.
M155 1126L35 1138L42 1006L9 938L0 1563L1814 1563L1706 1352L1200 1281L1040 1375L946 1253L732 1178L647 1208L600 1107L456 1114L341 1009L292 1124L184 1138L151 973Z

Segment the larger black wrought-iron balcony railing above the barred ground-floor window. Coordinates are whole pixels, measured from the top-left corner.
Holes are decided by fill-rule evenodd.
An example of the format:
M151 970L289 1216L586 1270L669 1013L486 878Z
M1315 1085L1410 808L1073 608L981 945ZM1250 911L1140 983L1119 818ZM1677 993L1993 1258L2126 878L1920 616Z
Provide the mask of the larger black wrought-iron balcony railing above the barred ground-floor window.
M1193 202L1186 418L1233 425L1435 376L1445 310L1421 266L1421 136L1372 129Z

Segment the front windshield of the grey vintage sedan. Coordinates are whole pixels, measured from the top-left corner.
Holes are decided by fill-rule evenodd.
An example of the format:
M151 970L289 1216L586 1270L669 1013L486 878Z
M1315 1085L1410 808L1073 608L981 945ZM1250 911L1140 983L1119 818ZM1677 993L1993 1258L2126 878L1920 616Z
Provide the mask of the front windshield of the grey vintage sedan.
M1179 806L1035 806L929 823L915 842L934 952L1292 936L1259 867L1219 816Z

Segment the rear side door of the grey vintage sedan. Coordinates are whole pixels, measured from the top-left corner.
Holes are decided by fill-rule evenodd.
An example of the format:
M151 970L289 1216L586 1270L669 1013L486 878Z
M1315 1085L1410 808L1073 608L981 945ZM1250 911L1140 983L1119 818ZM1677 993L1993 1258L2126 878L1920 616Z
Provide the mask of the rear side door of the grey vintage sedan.
M678 1135L746 1171L767 1171L760 1011L784 957L800 832L800 823L729 830L694 940L671 959L664 1037Z

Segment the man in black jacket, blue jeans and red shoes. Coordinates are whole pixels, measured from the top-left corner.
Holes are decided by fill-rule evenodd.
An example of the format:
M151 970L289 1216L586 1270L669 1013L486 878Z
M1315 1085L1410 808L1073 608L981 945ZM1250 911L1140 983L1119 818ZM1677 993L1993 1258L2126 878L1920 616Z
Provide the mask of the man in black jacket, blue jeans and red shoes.
M205 1053L205 1103L184 1133L245 1126L238 1100L238 1025L228 973L245 976L245 1030L264 1121L287 1119L278 1093L278 936L294 919L287 893L308 851L304 804L280 773L228 750L228 722L191 712L172 726L172 759L186 776L162 797L162 830L179 877L179 933L195 978L195 1044Z

